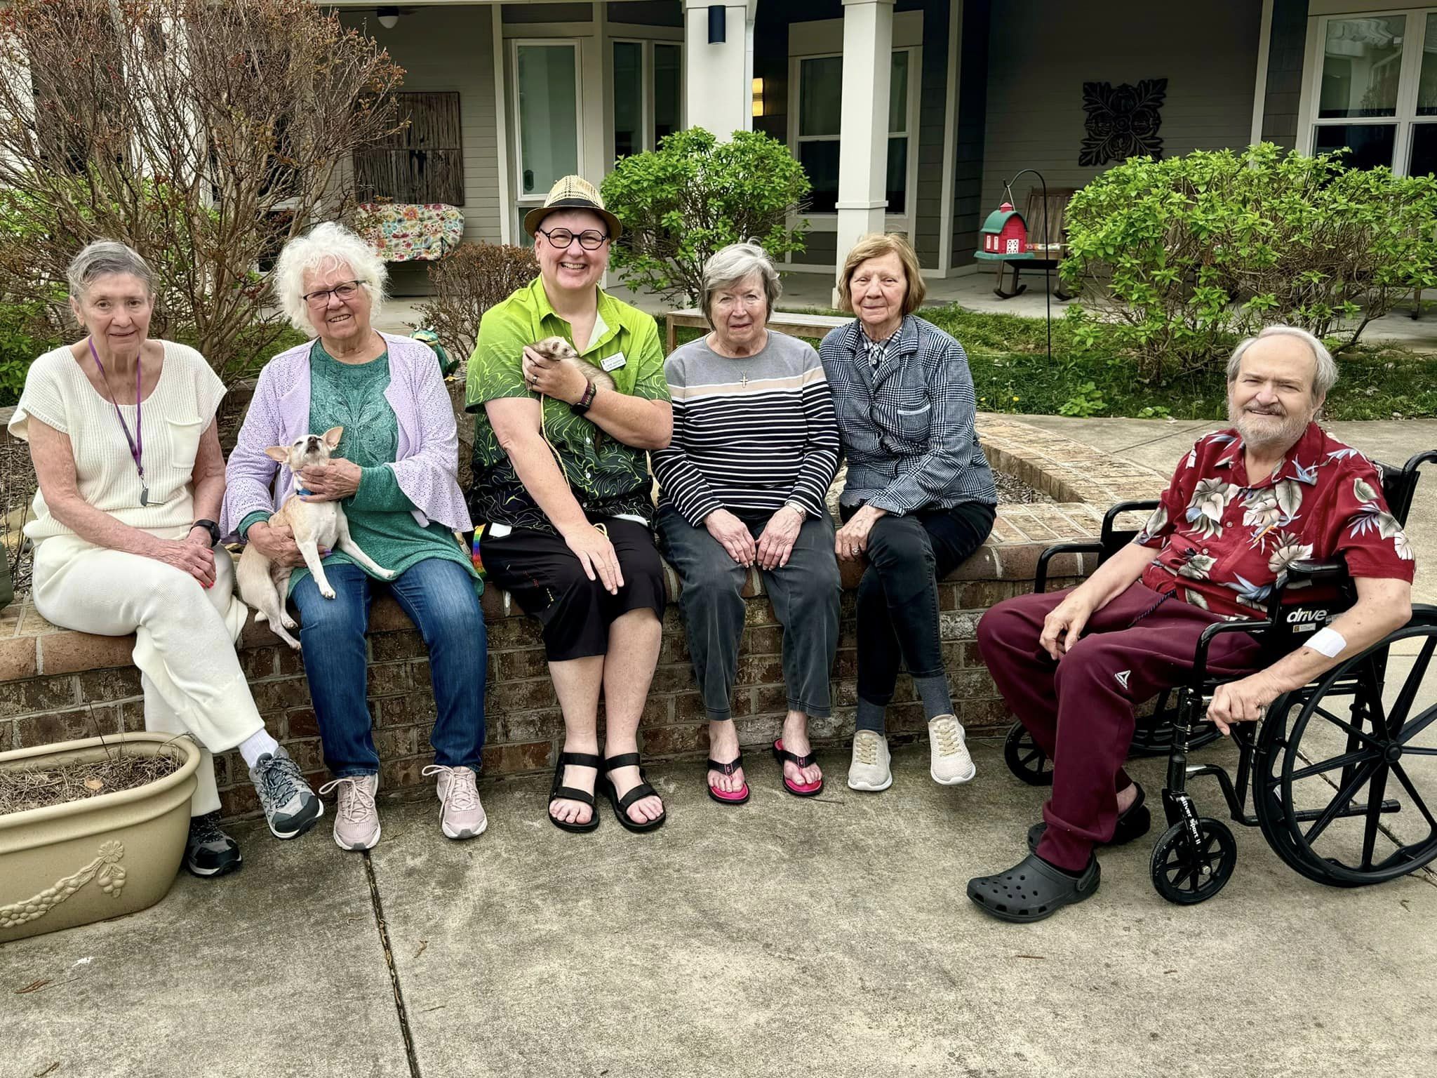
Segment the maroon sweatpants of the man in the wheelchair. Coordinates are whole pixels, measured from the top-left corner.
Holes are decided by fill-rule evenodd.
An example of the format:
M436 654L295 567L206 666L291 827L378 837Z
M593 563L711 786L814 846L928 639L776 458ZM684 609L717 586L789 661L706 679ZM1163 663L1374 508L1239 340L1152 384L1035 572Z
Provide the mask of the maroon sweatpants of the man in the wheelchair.
M1053 762L1048 831L1038 855L1082 871L1095 842L1112 838L1137 704L1186 680L1201 631L1220 621L1178 598L1134 584L1092 615L1062 660L1038 642L1043 618L1071 589L1007 599L979 622L979 651L999 691ZM1256 668L1246 632L1213 640L1207 668L1237 677ZM1158 811L1154 806L1154 811Z

